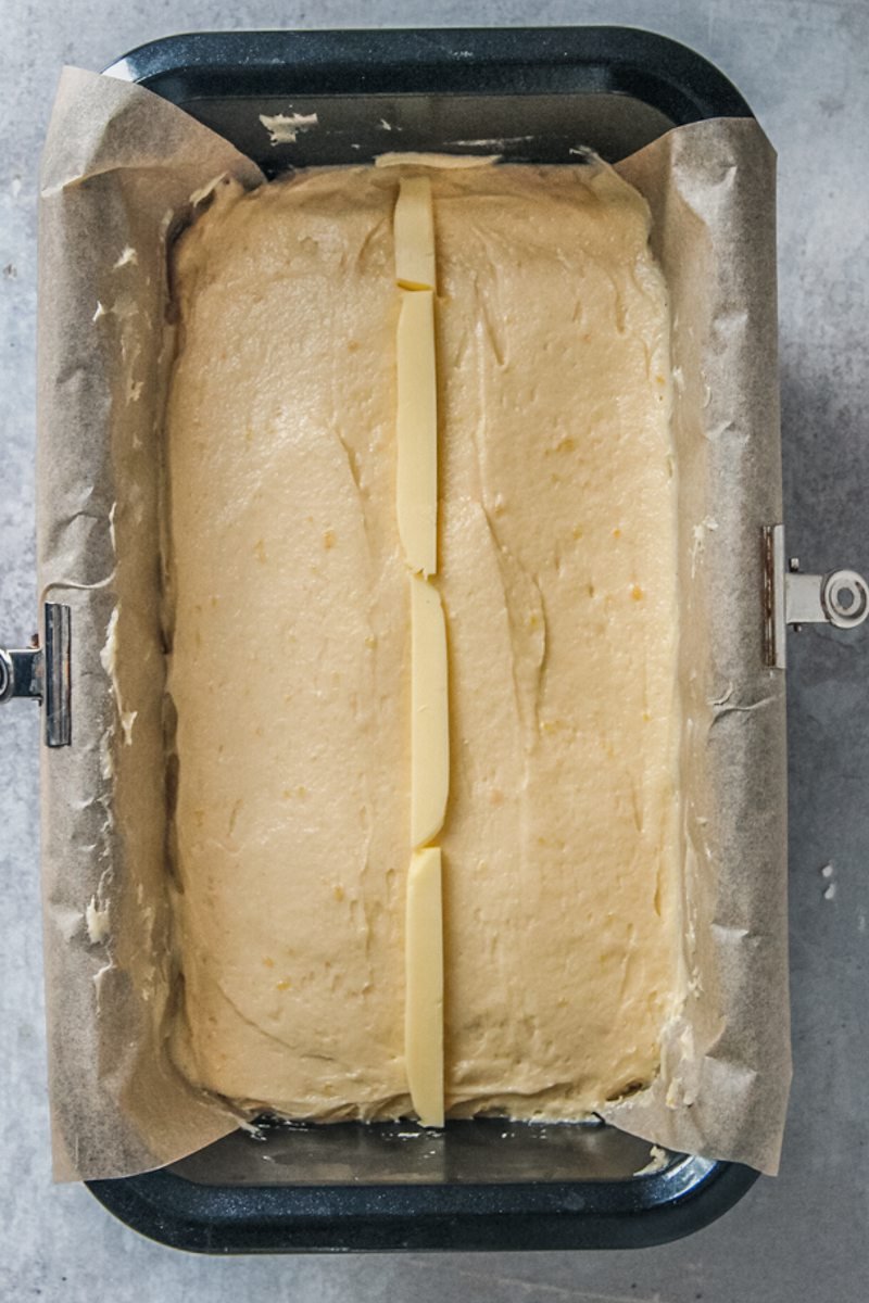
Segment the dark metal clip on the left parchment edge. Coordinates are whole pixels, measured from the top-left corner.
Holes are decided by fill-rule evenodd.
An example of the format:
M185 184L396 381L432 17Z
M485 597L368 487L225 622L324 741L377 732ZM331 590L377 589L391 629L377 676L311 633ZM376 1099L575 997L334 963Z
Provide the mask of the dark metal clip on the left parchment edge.
M39 635L22 650L0 648L0 706L13 697L29 697L46 708L46 744L69 747L70 710L70 611L46 602L43 645Z

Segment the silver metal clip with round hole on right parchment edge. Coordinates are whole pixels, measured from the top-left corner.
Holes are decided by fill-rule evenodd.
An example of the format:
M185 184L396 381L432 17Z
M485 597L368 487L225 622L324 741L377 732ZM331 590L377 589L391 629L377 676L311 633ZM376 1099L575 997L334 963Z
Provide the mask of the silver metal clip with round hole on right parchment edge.
M784 559L784 525L763 526L763 661L784 670L787 627L833 624L856 629L869 616L869 584L856 571L804 575Z

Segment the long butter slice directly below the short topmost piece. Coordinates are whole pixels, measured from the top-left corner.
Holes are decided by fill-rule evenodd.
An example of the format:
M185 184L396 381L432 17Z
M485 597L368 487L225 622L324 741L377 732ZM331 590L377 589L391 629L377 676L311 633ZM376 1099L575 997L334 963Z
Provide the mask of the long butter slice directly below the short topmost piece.
M430 289L403 289L400 293L396 418L399 536L410 569L434 575L438 568L434 294Z

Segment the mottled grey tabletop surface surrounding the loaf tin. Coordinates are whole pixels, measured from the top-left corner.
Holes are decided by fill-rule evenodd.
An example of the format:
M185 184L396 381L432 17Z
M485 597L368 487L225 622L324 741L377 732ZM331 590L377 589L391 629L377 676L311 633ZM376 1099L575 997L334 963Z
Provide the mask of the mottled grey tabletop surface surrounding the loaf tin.
M208 27L623 22L693 46L779 151L786 520L804 566L869 572L869 3L0 0L0 641L34 623L36 160L63 63L99 69ZM869 1298L869 636L791 640L795 1087L782 1175L720 1222L633 1253L214 1261L146 1243L50 1183L39 936L36 711L0 718L0 1299L434 1299L864 1303ZM823 865L833 876L822 877ZM833 899L823 890L835 885Z

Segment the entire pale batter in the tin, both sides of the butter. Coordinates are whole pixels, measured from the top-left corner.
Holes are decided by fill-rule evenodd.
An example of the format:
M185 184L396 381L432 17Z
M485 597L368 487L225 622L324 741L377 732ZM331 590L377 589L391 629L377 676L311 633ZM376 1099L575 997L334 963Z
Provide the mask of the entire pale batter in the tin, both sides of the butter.
M679 999L666 293L603 165L430 175L447 1102L573 1118ZM228 184L175 261L172 1045L297 1118L409 1109L397 185Z

